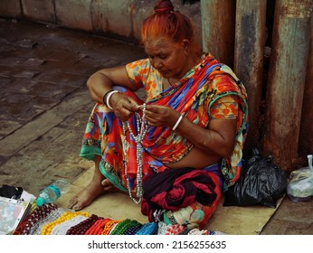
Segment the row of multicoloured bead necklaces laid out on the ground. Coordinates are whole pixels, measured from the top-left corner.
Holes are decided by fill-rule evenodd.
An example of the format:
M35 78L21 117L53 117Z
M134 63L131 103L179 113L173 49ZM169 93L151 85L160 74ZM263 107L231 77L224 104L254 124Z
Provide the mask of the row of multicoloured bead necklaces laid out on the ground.
M164 221L112 220L86 211L70 211L49 203L37 207L14 231L15 235L225 235L220 231L190 229Z

